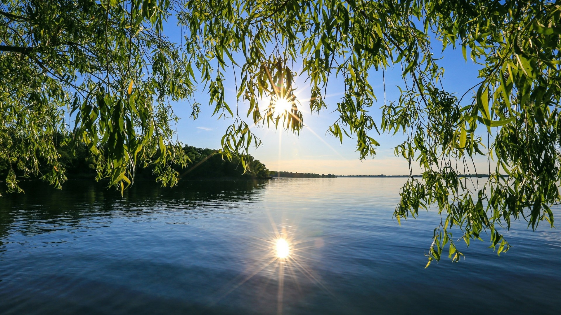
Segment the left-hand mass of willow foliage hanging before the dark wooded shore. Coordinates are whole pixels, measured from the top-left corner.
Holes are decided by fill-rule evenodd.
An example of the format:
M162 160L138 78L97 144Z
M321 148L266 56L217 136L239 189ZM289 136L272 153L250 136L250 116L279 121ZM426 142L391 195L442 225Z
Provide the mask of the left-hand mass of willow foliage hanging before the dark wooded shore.
M98 178L123 189L135 167L154 164L176 182L184 164L170 141L169 100L192 92L192 69L163 34L164 1L3 1L0 4L0 161L8 191L18 177L59 185L54 143L71 131L86 143ZM163 10L163 11L162 11ZM196 114L196 108L194 114ZM49 166L40 172L39 165Z

